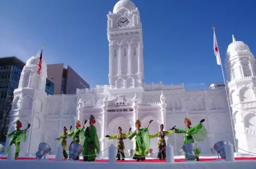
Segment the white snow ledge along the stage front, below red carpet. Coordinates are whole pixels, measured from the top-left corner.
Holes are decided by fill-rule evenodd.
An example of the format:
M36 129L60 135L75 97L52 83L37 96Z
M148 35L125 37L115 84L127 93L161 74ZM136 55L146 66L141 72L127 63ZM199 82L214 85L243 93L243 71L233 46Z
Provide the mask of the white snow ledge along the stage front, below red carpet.
M81 169L81 168L122 168L122 169L255 169L256 161L213 161L213 162L184 162L184 163L93 163L93 162L79 162L79 161L44 161L44 160L0 160L1 168L18 168L18 169Z

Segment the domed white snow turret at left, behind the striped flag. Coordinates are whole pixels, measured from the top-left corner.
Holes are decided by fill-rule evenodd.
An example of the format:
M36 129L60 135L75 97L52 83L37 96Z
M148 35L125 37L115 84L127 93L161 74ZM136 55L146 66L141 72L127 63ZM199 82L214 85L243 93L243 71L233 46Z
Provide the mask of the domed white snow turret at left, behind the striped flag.
M15 129L15 123L20 120L23 127L31 124L27 132L27 141L21 144L21 154L35 154L43 139L44 116L47 107L46 78L47 66L42 59L40 75L37 74L41 50L37 56L32 56L25 64L18 88L14 90L14 100L10 112L9 132ZM31 135L31 137L30 137ZM9 139L7 139L7 144ZM31 143L31 144L30 144Z

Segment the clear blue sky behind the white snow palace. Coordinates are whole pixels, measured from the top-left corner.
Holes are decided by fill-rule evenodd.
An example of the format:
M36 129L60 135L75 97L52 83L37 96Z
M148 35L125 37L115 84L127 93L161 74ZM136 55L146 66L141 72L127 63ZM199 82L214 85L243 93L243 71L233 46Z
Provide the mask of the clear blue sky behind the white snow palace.
M64 63L91 87L108 85L107 14L118 0L1 0L0 56L23 61L44 43L47 64ZM143 25L145 82L204 88L223 82L232 34L256 53L255 0L133 0Z

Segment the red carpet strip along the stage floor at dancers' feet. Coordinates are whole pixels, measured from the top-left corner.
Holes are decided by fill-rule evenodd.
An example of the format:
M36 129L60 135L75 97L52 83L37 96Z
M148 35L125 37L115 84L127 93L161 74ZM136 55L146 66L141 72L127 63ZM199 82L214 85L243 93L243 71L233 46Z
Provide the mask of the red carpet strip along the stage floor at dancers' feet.
M6 160L7 157L0 157L1 160ZM17 160L34 160L34 157L19 157ZM42 159L43 160L43 159ZM55 160L55 158L47 158L46 160L50 160L53 161ZM217 158L216 157L201 157L200 161L216 161ZM256 157L235 157L235 160L256 160ZM66 161L65 159L63 159L63 161ZM80 158L79 161L82 161L82 159ZM184 158L175 158L174 159L175 162L183 162L185 161ZM96 159L95 162L108 162L108 159ZM153 159L153 158L146 158L145 161L136 161L133 159L129 159L126 158L125 160L117 160L117 163L131 163L131 162L136 162L136 163L166 163L166 160L159 160L159 159Z

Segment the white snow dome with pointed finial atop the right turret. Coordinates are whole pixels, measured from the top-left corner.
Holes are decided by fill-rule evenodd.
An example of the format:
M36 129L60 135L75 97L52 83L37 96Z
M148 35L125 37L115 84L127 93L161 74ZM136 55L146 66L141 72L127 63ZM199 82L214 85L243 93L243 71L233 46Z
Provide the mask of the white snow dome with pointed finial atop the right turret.
M251 52L247 44L245 44L242 41L236 41L234 35L233 36L233 42L229 44L227 49L228 56L233 56L238 53L249 53Z

